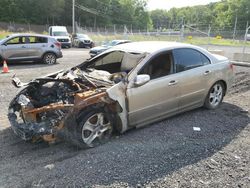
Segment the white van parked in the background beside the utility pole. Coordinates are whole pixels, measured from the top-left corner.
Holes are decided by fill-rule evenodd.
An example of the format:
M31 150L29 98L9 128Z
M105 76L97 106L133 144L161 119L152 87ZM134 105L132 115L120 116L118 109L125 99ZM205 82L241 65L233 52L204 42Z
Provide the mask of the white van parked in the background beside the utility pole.
M53 36L58 42L60 42L62 47L71 47L71 39L65 26L50 26L49 35Z

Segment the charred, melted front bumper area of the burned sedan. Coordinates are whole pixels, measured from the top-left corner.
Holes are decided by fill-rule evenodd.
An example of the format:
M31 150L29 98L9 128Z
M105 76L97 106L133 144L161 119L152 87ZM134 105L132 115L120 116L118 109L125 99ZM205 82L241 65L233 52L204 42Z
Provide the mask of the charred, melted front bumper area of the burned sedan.
M55 134L71 106L52 104L34 108L28 97L20 94L11 102L8 118L16 135L23 140L31 140Z

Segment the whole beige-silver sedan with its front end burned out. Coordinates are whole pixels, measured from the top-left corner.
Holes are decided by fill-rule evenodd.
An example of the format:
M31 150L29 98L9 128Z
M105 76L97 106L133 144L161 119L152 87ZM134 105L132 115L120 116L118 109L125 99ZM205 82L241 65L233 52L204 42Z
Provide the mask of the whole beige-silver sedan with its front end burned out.
M66 71L22 83L8 117L23 140L94 147L190 109L217 108L233 81L227 58L188 44L135 42Z

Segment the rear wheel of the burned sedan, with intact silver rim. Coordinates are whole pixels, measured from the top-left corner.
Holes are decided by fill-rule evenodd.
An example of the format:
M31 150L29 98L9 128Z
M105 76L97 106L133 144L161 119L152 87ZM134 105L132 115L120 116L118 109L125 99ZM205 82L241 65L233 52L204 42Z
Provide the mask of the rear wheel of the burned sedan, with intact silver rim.
M216 82L207 94L204 107L207 109L216 109L222 103L225 95L225 85L223 82Z

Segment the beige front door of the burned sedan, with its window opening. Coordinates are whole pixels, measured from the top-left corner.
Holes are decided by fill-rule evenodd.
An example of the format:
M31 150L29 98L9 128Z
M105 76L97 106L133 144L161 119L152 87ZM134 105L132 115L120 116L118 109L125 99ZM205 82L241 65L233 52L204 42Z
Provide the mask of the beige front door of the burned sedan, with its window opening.
M171 51L153 57L140 74L148 74L151 79L142 86L127 89L129 125L150 123L176 113L179 86L178 75L173 74Z

